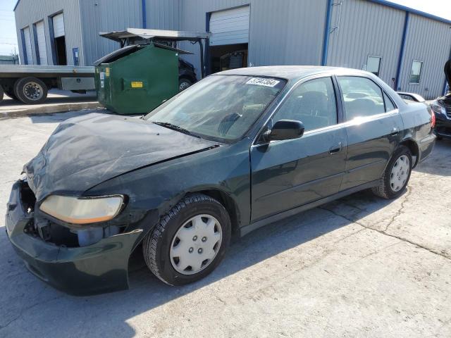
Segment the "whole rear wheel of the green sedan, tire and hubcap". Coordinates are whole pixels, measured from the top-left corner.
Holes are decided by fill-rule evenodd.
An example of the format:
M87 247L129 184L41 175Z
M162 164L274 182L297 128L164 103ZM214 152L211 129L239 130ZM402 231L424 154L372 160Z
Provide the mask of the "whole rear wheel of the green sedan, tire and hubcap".
M400 146L393 153L381 179L372 191L384 199L395 199L404 192L412 172L412 153L407 146Z

